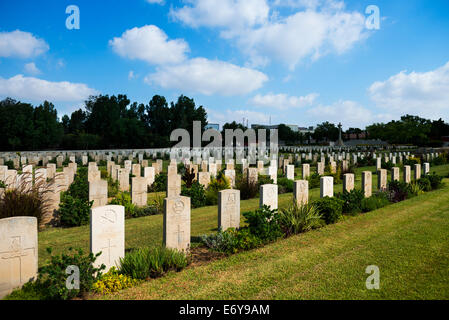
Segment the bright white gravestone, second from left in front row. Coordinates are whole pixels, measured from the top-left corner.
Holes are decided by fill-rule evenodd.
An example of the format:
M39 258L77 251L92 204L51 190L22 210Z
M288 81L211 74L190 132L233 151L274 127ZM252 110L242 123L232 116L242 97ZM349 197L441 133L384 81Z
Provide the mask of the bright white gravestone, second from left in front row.
M125 257L125 207L103 206L91 210L90 251L101 252L95 267L120 266L120 258Z

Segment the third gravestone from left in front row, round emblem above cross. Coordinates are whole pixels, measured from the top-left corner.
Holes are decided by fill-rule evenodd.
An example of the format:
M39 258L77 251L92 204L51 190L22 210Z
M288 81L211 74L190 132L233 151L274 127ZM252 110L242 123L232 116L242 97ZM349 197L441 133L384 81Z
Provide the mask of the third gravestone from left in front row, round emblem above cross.
M167 197L164 199L164 208L164 245L179 251L189 251L190 198Z

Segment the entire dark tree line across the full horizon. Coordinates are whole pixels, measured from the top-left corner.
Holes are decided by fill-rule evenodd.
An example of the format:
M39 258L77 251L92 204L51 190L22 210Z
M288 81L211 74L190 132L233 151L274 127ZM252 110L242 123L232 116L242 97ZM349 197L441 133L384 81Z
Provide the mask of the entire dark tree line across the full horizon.
M176 102L155 95L148 104L131 101L126 95L92 96L85 107L70 116L58 118L55 106L45 101L34 107L29 103L6 98L0 101L0 150L49 149L112 149L112 148L166 148L174 129L184 128L192 134L193 121L207 125L203 106L181 95ZM225 129L247 127L235 121ZM349 128L343 133L367 133L369 139L380 139L390 144L441 146L441 137L449 136L449 124L442 119L428 120L405 115L400 120L374 123L365 130ZM289 126L278 126L278 137L287 145L336 141L339 129L330 122L318 124L313 133L293 131ZM207 143L206 143L207 144Z

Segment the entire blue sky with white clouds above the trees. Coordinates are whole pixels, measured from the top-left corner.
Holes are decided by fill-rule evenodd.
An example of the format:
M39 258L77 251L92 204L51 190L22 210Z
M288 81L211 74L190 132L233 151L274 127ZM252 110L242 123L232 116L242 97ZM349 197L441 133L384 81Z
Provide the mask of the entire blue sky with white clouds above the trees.
M449 121L448 12L447 0L1 1L0 98L47 99L59 116L124 93L184 94L220 124Z

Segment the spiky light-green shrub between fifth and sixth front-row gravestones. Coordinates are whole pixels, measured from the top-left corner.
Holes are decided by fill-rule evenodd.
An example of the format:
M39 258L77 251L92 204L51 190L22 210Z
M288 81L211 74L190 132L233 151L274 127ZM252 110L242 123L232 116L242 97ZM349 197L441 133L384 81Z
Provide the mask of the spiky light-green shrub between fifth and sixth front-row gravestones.
M313 204L298 205L296 201L279 211L279 224L286 236L309 231L320 225L321 214Z

